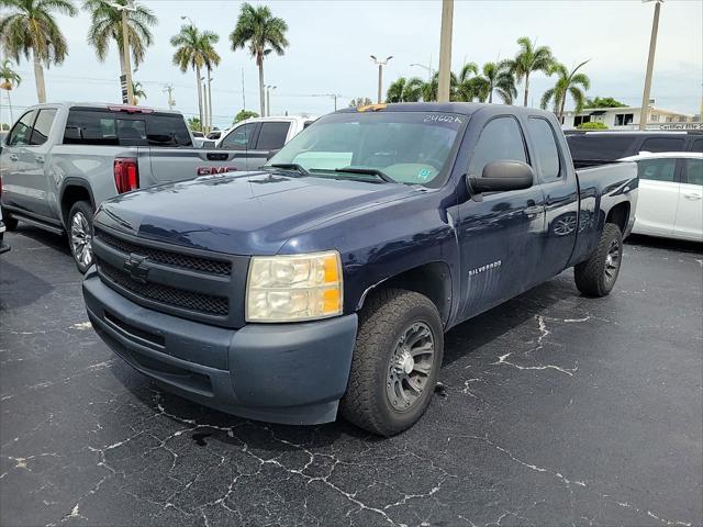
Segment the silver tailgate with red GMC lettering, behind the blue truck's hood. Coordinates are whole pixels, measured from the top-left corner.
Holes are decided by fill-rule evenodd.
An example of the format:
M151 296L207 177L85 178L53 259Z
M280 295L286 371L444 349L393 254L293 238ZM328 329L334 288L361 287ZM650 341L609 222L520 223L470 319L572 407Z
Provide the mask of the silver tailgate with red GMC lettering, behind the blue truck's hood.
M244 152L200 148L149 149L150 184L182 181L198 176L246 170ZM142 168L142 167L140 167ZM145 175L141 172L142 181Z

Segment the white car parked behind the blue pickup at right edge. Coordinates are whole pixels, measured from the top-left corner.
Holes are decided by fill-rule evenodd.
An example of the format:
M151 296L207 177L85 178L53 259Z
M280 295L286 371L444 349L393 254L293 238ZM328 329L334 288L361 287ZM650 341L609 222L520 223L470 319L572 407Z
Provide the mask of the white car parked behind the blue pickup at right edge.
M703 242L703 154L640 153L639 199L633 233Z

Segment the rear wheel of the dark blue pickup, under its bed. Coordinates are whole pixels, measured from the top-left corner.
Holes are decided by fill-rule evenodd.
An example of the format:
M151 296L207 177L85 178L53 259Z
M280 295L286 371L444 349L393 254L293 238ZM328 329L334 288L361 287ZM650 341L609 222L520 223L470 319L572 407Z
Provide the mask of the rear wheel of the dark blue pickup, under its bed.
M576 287L589 296L609 294L623 262L623 234L613 223L606 223L598 248L591 257L573 268Z

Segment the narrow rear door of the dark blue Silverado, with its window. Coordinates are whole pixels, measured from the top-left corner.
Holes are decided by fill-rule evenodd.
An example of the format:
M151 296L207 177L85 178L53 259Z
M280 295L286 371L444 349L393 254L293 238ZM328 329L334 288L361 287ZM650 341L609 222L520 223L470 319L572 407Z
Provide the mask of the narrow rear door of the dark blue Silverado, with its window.
M568 265L579 227L576 176L567 170L553 123L542 116L527 119L532 167L545 197L545 258L536 269L536 282L560 273ZM566 145L563 145L566 147Z

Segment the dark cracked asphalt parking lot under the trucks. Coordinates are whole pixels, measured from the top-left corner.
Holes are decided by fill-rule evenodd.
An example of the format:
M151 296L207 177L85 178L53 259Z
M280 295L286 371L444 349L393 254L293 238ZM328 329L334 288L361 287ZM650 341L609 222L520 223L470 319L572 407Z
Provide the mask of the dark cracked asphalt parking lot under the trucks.
M635 239L453 329L392 439L248 422L161 392L87 322L65 242L0 257L0 524L703 525L703 254Z

